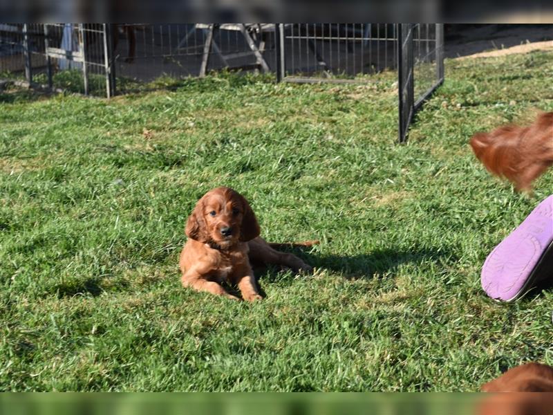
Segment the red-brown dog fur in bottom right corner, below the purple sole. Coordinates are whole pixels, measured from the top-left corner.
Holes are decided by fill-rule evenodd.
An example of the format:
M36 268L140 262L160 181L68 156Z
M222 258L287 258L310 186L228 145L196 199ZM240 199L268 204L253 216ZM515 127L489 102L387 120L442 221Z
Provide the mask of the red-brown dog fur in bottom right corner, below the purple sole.
M516 393L486 397L478 407L479 415L553 414L553 367L539 363L517 366L485 383L481 390Z

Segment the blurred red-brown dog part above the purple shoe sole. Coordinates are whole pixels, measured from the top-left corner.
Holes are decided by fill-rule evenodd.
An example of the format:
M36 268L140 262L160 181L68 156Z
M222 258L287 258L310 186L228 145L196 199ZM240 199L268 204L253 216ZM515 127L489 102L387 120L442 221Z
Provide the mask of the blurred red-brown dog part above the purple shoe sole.
M476 133L470 145L489 172L512 181L517 191L531 191L532 182L553 165L553 112L541 114L529 127Z

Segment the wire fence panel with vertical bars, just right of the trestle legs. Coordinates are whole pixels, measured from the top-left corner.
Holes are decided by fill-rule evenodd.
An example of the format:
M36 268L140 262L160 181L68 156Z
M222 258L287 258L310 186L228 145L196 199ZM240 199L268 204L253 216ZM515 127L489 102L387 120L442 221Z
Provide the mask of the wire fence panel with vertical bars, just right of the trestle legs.
M397 68L395 24L281 24L279 29L284 80L355 80Z

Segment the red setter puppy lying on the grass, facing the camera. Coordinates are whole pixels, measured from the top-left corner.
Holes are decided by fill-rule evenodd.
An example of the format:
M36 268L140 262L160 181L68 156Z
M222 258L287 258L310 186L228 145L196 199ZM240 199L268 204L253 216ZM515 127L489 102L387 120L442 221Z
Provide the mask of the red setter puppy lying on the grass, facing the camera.
M182 285L238 299L222 282L237 285L246 301L261 299L250 261L280 264L294 271L312 268L292 254L274 250L259 237L259 224L246 199L229 187L207 192L189 216L188 241L180 252ZM311 246L308 241L301 246ZM274 244L277 246L278 244Z

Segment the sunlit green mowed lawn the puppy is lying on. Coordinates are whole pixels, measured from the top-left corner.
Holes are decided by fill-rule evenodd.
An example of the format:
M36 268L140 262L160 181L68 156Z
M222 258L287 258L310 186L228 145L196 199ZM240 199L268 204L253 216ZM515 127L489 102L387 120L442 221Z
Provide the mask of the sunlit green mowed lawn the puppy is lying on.
M0 94L1 391L476 391L553 364L553 290L498 304L489 251L553 193L516 194L476 131L553 110L553 53L446 61L407 145L393 73L217 75L113 100ZM250 201L316 270L267 297L180 286L196 201Z

